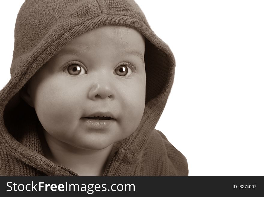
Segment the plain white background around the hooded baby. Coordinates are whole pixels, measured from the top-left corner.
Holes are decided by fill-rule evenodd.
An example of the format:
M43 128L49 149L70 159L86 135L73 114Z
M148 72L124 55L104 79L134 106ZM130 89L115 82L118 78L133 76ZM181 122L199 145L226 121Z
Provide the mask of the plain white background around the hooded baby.
M0 89L10 79L24 0L0 1ZM136 0L176 58L156 129L187 158L189 175L264 175L264 2Z

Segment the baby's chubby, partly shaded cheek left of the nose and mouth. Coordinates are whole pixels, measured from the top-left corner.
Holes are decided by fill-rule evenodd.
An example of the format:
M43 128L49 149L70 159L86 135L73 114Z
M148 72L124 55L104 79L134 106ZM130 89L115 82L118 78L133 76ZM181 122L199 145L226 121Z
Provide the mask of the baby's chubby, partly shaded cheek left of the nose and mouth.
M41 124L47 131L62 132L72 129L79 119L78 100L64 88L49 85L42 87L35 100L35 110Z

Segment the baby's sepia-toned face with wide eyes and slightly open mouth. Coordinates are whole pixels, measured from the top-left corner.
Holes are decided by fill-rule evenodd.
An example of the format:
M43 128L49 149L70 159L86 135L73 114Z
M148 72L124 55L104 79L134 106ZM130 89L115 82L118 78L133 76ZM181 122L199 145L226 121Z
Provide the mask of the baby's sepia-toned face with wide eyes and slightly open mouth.
M103 149L132 134L145 107L144 37L104 26L64 46L29 82L38 118L53 140Z

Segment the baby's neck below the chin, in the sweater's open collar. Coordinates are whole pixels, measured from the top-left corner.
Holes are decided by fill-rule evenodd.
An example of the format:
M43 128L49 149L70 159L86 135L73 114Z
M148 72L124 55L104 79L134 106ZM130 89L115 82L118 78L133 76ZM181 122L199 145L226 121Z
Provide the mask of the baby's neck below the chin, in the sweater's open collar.
M102 176L114 144L101 150L87 150L71 146L51 137L44 131L42 149L47 159L63 165L79 176Z

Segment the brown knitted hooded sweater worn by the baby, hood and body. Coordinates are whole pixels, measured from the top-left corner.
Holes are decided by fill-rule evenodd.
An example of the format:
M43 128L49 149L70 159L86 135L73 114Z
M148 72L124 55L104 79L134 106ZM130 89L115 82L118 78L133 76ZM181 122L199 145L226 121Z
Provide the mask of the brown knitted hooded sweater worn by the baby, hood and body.
M106 25L128 26L146 37L146 105L140 125L110 157L104 175L188 175L186 158L155 130L173 84L175 60L132 0L24 2L16 20L11 79L0 92L0 175L77 175L44 156L40 122L19 92L73 38Z

